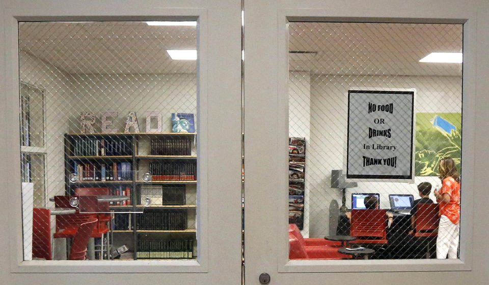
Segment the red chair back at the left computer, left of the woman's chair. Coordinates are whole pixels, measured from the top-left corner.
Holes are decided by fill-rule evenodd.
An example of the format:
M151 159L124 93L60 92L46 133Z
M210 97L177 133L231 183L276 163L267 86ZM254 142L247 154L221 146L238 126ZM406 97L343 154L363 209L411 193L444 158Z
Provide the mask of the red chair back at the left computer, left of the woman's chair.
M351 210L350 243L387 244L387 210Z

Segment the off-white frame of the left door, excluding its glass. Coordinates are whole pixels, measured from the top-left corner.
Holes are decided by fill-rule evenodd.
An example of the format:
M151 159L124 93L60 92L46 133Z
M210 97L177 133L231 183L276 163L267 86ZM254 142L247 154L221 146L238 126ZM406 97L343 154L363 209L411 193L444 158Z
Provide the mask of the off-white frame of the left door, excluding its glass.
M0 179L4 187L0 193L8 199L0 202L0 213L11 217L5 221L0 241L8 244L8 254L2 256L2 277L21 283L32 280L58 280L68 276L56 273L86 273L77 276L80 281L96 273L158 273L161 280L180 283L208 283L216 280L223 284L241 280L241 4L227 1L107 1L103 5L93 2L44 0L40 2L3 0L4 11L0 34L0 49L5 68L0 75L2 86L3 136L0 157L9 165L0 165ZM175 8L179 7L179 8ZM225 12L225 13L223 13ZM199 182L197 215L197 260L175 261L23 261L22 218L20 195L20 146L18 132L18 21L155 21L197 20L197 104L199 124ZM5 56L5 57L4 57ZM223 64L224 62L224 64ZM211 76L212 75L212 76ZM0 86L1 86L0 85ZM230 114L222 110L229 110ZM8 147L7 147L8 146ZM11 147L14 146L14 147ZM216 163L219 162L219 163ZM236 189L230 191L229 189ZM10 201L10 202L9 202ZM20 234L19 234L20 233ZM228 274L222 274L223 269ZM26 274L14 274L26 273ZM29 273L29 274L27 274ZM36 274L43 273L43 274ZM49 274L45 274L49 273ZM52 274L51 274L52 273ZM162 273L172 273L164 274ZM202 273L202 274L189 274ZM153 280L151 274L108 274L112 277L94 279L114 283ZM137 277L139 276L139 277ZM11 279L8 279L11 278ZM99 277L97 277L99 278ZM161 278L161 277L159 277ZM15 280L15 282L13 281ZM85 280L86 281L86 280ZM56 282L55 282L56 283ZM76 280L74 283L77 283Z

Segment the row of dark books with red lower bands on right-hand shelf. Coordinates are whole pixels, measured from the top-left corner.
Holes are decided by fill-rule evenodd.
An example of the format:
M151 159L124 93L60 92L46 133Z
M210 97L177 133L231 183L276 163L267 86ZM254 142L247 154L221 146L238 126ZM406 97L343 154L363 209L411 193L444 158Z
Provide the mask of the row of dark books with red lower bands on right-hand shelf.
M196 161L151 163L149 171L153 180L197 180Z

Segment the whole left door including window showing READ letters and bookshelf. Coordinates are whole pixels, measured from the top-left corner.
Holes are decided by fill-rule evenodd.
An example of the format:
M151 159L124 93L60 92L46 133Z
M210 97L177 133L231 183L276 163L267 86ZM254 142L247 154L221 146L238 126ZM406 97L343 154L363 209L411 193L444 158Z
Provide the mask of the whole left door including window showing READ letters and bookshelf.
M1 10L0 283L239 284L241 3L2 1ZM123 197L97 196L90 260L71 261L82 231L70 237L74 219L53 210L58 196L83 191ZM51 215L36 224L33 208ZM41 245L33 223L47 231Z

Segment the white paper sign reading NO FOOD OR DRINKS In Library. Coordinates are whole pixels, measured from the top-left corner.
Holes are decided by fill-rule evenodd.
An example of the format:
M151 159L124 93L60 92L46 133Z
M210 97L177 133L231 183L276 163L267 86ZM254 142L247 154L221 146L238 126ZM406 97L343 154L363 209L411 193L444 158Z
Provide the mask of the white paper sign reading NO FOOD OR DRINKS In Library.
M414 91L348 90L346 178L413 178Z

